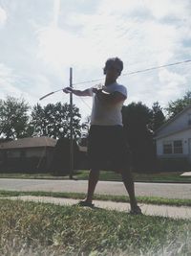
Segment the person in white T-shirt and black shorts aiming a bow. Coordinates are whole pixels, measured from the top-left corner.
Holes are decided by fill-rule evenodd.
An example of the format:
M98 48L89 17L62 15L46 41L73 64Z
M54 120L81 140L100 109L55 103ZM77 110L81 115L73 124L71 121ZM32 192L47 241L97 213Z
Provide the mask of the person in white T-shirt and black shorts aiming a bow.
M106 162L112 170L122 176L122 181L130 198L131 214L141 214L135 196L135 186L130 168L130 153L124 138L121 108L127 99L127 89L117 83L123 70L120 58L108 58L103 68L104 85L75 90L72 87L63 89L65 93L73 92L76 96L93 96L91 126L88 135L88 158L90 175L87 197L79 201L80 206L94 207L93 198L99 172Z

